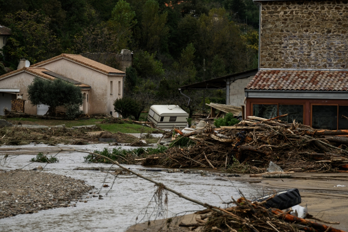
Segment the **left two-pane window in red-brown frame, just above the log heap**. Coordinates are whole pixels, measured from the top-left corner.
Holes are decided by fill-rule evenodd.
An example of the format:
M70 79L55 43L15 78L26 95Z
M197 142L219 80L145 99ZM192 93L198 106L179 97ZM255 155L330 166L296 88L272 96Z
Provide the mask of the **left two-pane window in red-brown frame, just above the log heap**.
M279 104L279 103L268 103L268 104L252 104L253 116L271 119L279 115L288 114L282 117L282 121L303 123L303 110L304 106L293 105L293 104Z

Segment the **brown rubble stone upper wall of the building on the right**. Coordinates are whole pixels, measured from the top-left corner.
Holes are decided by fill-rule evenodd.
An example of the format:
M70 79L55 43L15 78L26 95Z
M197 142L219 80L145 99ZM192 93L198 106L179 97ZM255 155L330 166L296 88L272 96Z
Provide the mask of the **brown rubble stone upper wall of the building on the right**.
M260 68L348 69L348 1L261 1Z

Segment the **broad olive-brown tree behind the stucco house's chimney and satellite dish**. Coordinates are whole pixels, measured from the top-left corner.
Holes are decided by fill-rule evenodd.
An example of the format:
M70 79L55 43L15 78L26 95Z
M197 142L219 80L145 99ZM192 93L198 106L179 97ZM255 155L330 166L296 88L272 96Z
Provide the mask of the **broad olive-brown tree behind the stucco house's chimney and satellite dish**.
M5 54L17 68L18 60L26 57L31 63L55 56L61 49L60 42L49 29L50 19L39 12L18 11L6 15L12 35L4 47Z

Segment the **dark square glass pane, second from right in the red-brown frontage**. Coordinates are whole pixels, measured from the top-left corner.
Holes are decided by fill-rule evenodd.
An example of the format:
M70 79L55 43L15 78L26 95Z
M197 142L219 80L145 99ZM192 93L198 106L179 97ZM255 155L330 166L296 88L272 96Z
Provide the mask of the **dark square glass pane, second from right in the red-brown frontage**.
M337 130L337 105L313 105L312 127Z

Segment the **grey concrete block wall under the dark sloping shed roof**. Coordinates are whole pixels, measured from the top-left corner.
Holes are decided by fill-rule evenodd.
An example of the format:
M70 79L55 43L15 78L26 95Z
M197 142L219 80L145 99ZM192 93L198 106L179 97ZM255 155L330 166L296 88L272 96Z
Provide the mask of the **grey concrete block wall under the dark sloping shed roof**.
M240 106L244 105L244 88L248 85L248 83L253 79L254 75L250 77L246 77L243 79L238 79L235 81L231 81L230 83L230 105Z

